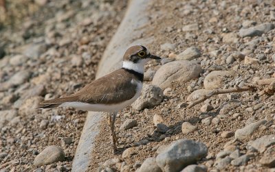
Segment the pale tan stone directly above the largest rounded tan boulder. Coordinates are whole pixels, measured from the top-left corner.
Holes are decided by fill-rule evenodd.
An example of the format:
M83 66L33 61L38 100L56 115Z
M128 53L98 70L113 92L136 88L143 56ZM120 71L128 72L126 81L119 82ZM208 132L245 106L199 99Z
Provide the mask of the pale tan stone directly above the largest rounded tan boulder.
M194 60L201 56L201 51L197 47L189 47L176 56L176 60Z

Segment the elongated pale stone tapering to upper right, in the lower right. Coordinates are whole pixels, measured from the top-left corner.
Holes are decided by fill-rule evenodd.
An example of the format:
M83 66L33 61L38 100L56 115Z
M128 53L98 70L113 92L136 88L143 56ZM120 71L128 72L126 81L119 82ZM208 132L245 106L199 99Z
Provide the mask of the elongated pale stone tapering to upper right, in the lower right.
M235 132L235 138L238 138L239 140L243 140L245 138L250 137L255 130L257 130L260 125L265 124L267 121L265 119L261 121L257 121L255 123L250 123L249 125L245 125L245 127L236 130Z

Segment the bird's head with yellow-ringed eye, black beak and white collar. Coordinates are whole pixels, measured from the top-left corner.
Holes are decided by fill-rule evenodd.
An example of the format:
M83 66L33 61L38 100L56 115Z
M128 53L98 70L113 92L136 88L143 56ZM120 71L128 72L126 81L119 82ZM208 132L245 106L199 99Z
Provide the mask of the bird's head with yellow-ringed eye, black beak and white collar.
M151 59L159 60L161 58L151 54L150 51L142 45L134 45L124 53L123 67L144 73L144 65Z

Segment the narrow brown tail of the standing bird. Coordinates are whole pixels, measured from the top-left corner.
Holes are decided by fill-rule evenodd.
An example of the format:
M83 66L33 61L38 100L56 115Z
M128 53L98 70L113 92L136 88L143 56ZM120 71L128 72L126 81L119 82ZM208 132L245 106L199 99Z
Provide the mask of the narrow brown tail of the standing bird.
M76 99L76 95L70 95L67 97L41 101L37 106L37 109L56 108L58 106L61 106L62 103L76 101Z

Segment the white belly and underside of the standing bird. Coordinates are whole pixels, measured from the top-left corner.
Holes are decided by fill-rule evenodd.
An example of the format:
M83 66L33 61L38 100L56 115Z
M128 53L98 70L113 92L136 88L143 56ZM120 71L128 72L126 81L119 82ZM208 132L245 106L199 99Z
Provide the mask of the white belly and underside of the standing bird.
M82 103L79 101L72 101L62 103L59 107L73 107L78 110L87 110L87 111L94 111L94 112L118 112L130 106L138 97L140 97L140 93L142 92L142 82L137 83L137 89L135 96L127 101L123 101L121 103L116 104L89 104L89 103ZM126 93L125 93L126 94Z

